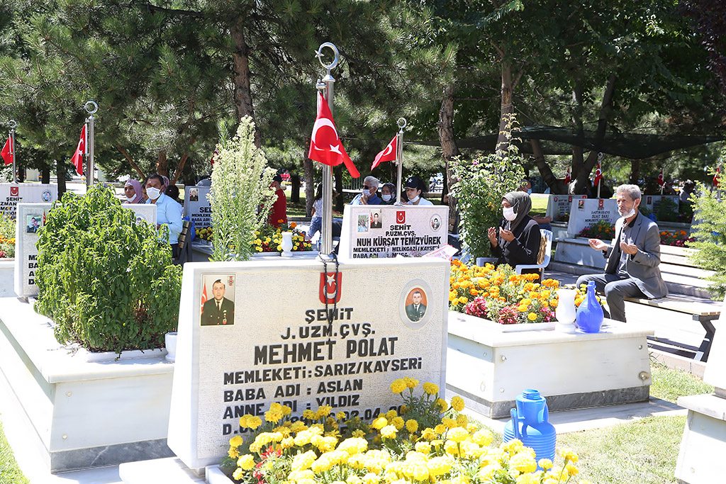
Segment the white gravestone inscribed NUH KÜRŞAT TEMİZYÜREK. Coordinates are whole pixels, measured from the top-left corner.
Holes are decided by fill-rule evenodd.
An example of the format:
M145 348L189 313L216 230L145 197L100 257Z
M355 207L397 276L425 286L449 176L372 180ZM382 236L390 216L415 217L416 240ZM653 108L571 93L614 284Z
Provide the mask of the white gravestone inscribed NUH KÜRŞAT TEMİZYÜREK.
M340 257L418 257L448 243L446 205L346 205Z

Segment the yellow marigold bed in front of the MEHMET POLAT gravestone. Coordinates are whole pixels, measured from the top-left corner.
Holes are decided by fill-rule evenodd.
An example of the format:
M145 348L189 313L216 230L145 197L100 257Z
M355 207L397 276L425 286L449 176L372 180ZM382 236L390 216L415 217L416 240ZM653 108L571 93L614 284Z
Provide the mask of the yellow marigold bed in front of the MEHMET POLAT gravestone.
M549 459L537 462L520 440L491 447L492 433L458 413L460 397L449 405L433 383L424 383L417 396L418 384L394 380L391 391L403 405L372 422L333 414L330 406L306 410L293 422L289 407L273 403L264 421L240 418L240 427L252 432L229 440L222 467L235 482L249 484L557 484L577 475L574 451L560 451L555 468Z

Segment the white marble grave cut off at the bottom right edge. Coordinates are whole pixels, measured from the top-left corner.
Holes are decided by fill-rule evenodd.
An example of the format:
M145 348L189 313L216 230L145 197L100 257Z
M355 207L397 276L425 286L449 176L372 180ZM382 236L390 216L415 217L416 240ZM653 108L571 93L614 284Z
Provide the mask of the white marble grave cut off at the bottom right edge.
M726 316L714 321L716 334L711 343L709 361L703 381L714 385L711 395L690 395L678 398L678 404L688 409L675 477L688 484L721 483L724 480L719 465L726 455Z

